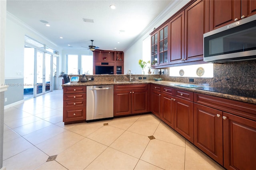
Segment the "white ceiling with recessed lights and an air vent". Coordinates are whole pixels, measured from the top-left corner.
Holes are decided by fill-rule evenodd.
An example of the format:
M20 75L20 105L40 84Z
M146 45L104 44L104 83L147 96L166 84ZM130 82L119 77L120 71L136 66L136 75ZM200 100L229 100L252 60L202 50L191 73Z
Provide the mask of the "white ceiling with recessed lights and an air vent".
M124 51L172 3L175 0L7 0L7 11L63 49L85 49L81 46L92 45L93 39L100 49Z

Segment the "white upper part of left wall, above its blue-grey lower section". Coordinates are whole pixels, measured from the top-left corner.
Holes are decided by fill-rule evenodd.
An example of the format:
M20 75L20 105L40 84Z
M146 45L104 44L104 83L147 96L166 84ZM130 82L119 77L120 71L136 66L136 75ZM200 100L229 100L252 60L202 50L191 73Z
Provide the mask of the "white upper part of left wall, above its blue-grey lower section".
M36 41L46 44L52 49L61 51L59 47L51 43L46 37L40 35L25 23L7 12L6 16L6 57L5 78L23 78L24 74L24 37L28 36Z

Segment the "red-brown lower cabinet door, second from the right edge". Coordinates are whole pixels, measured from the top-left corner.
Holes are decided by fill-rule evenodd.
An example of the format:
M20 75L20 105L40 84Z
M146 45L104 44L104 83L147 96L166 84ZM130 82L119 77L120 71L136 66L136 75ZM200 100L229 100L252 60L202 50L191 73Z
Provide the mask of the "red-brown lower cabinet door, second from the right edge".
M194 103L194 145L223 166L222 111Z

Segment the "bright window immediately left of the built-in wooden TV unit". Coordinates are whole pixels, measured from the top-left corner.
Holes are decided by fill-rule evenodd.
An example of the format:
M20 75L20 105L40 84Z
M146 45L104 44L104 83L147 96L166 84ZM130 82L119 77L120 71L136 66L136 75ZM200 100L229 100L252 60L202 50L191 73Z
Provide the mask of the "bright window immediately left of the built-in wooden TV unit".
M93 74L93 56L82 55L82 66L80 74Z

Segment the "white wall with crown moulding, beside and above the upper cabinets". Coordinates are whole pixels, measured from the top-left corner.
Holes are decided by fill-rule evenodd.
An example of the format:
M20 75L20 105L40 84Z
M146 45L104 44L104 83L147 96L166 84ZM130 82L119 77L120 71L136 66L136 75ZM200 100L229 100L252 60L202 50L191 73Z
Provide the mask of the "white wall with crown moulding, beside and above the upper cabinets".
M144 35L141 35L138 40L135 40L132 46L128 47L128 49L124 51L124 73L126 73L128 69L131 69L132 74L139 74L142 72L141 68L139 67L138 61L139 59L142 59L143 40L147 38L152 31L154 31L154 28L159 27L162 23L164 23L172 15L174 15L178 10L180 10L180 8L185 6L189 1L190 0L175 1L174 6L168 8L168 11L166 12L165 16L159 16L160 19L156 18L156 20L159 21L156 22L150 29L147 29ZM148 60L151 60L150 56L148 56Z

